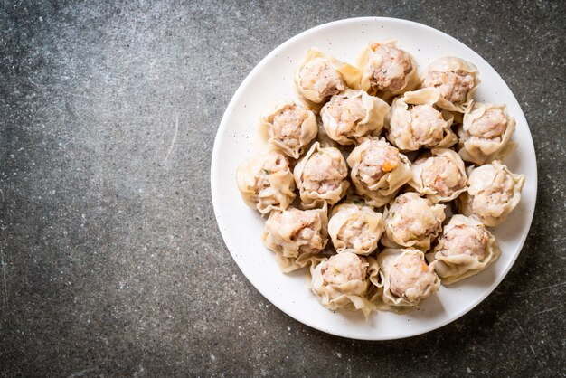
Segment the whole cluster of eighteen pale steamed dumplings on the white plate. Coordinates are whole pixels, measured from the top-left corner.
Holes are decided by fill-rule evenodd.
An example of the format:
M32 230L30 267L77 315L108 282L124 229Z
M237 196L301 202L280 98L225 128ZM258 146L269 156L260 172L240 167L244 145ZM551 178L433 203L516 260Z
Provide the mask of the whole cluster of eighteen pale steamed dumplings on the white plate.
M368 316L409 312L497 260L487 227L519 203L524 175L501 162L515 121L474 101L474 64L442 57L419 74L386 41L357 67L311 49L293 81L299 100L260 118L267 153L236 172L283 272L306 269L323 306Z

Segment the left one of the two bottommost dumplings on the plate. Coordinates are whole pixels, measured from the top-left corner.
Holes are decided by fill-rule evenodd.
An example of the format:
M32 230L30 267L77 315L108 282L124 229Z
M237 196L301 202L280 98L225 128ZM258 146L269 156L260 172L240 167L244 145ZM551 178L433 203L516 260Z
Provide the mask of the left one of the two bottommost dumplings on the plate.
M369 277L377 276L373 258L363 258L344 251L311 265L311 289L322 305L330 310L362 310L367 317L375 307L364 297Z

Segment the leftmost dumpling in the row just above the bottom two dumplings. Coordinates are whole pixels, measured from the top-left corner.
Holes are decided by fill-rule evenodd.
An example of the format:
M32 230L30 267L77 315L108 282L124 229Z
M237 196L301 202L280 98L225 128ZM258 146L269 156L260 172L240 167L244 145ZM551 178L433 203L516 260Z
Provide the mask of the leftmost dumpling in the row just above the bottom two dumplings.
M279 268L288 273L322 260L316 254L324 250L328 241L327 225L326 205L314 210L274 210L265 222L262 240L275 252Z

